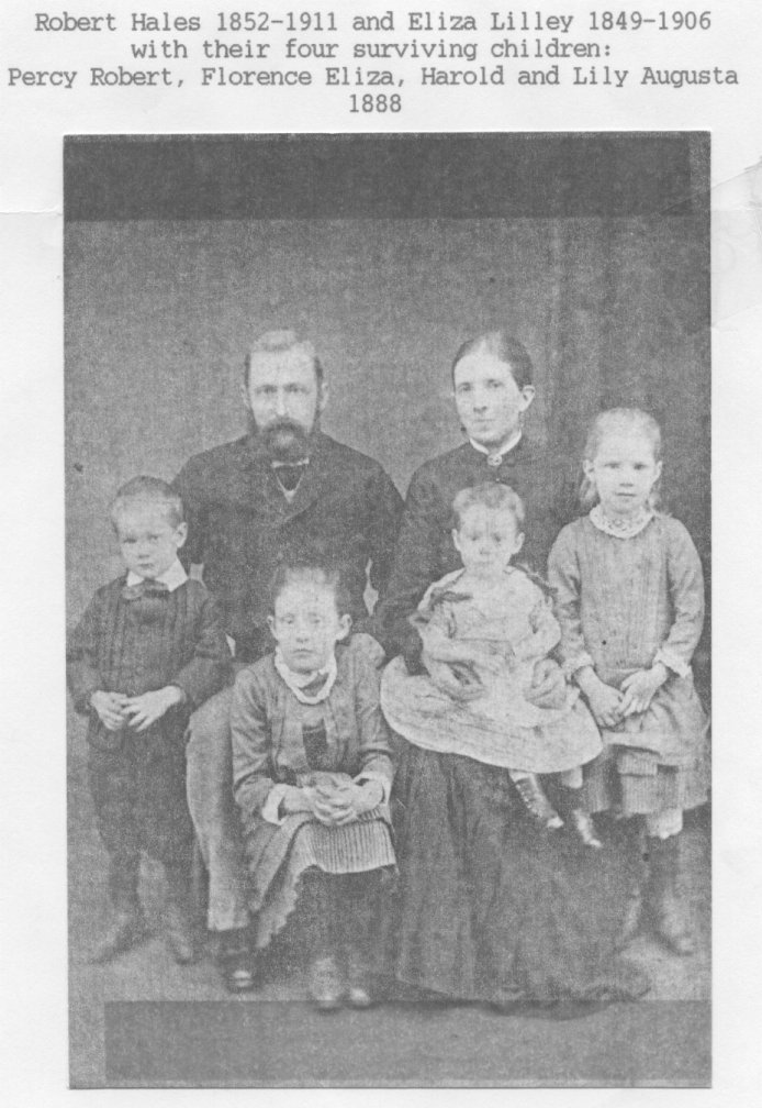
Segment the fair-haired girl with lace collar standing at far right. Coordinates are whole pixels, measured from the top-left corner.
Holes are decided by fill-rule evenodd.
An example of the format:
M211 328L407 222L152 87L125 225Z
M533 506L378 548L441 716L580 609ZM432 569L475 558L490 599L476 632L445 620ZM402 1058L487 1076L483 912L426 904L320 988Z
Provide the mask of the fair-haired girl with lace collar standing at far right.
M686 527L658 511L661 433L650 416L603 412L583 465L591 510L560 532L548 568L564 664L606 743L586 770L586 799L591 811L639 817L656 933L690 954L679 834L682 812L707 800L707 719L691 671L703 625L701 564ZM624 941L641 907L638 888Z

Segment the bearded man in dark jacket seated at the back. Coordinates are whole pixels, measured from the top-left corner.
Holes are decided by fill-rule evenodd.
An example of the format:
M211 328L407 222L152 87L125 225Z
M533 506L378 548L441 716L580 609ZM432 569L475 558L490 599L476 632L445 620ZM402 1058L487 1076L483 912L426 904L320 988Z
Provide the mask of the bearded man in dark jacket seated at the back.
M328 388L312 346L292 331L253 345L243 384L248 434L197 454L175 488L183 497L187 564L219 602L240 668L272 649L269 584L279 554L315 550L342 564L353 626L369 618L364 594L382 593L402 501L378 462L320 430ZM226 986L251 988L246 869L233 800L228 714L231 690L190 721L188 806L209 875L208 926L219 933Z

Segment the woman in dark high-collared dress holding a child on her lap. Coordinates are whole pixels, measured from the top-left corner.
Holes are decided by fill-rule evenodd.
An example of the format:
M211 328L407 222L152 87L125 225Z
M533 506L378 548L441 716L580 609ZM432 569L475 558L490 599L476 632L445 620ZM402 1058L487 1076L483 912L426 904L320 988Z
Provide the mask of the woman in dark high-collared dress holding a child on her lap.
M443 691L467 699L481 689L456 675L487 664L484 648L432 626L419 632L408 619L428 586L459 568L455 494L485 481L511 485L527 506L526 552L539 570L565 519L550 460L524 433L534 388L521 342L503 332L466 342L453 388L468 441L414 474L378 620L411 673L422 668ZM538 663L527 699L554 707L564 697L558 667ZM553 799L553 780L545 784ZM637 866L617 834L604 850L586 850L566 831L538 825L505 769L410 742L397 801L400 982L501 1010L529 1003L554 1013L646 992L642 974L615 956Z

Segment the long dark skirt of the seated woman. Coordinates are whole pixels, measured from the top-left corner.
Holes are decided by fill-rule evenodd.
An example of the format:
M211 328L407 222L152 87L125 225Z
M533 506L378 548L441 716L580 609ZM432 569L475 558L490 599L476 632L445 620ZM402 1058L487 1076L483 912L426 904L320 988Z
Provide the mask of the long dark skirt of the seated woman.
M505 770L409 743L395 792L399 981L500 1004L647 991L615 955L636 880L624 831L596 851L538 829Z

